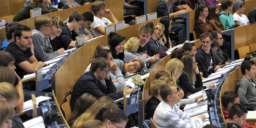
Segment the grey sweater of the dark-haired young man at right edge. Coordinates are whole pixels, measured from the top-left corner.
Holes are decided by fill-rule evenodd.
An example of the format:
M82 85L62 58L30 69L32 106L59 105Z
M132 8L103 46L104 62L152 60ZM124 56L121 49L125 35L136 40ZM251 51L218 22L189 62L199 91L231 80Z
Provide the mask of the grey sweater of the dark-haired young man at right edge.
M251 80L243 77L238 83L237 93L241 104L249 104L256 110L256 88Z

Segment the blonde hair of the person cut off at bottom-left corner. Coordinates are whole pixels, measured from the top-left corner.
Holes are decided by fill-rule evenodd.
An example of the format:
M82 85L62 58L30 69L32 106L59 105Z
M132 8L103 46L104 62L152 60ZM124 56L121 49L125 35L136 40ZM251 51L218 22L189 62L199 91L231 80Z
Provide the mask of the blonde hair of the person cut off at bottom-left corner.
M15 111L7 102L0 101L0 128L4 121L9 121L15 115Z

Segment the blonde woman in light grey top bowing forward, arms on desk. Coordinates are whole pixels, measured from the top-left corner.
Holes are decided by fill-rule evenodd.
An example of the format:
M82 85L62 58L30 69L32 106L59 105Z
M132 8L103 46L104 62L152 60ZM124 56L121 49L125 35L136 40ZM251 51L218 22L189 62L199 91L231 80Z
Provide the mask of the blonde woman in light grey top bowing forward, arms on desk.
M148 60L156 60L157 56L152 56L149 58L145 58L144 56L136 53L139 48L139 39L137 37L132 37L124 44L124 61L130 62L131 60L140 59L144 63Z

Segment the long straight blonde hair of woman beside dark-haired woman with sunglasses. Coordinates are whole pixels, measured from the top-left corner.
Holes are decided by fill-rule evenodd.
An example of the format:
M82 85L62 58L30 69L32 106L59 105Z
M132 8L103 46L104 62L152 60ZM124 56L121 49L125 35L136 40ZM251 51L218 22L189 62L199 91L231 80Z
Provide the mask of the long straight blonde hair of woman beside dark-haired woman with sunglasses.
M183 69L184 68L184 64L177 58L173 58L171 60L168 61L168 63L164 66L164 71L168 72L171 75L171 78L173 80L173 84L177 86L177 78L176 78L176 74L178 72L178 70Z

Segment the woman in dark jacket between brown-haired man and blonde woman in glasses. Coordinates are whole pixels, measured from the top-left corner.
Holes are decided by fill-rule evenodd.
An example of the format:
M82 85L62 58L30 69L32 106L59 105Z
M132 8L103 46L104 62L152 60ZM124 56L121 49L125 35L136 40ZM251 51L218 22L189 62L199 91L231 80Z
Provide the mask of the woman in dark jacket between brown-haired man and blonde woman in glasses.
M154 56L156 54L160 54L161 52L166 52L168 51L168 48L165 47L164 45L160 44L158 42L158 40L156 40L157 34L158 34L158 28L156 28L156 26L150 22L148 24L146 24L145 26L148 26L151 28L151 37L148 40L148 43L150 44L150 49L151 49L151 55L150 56Z

